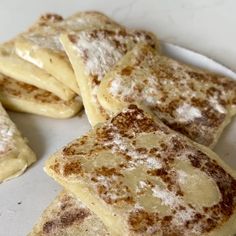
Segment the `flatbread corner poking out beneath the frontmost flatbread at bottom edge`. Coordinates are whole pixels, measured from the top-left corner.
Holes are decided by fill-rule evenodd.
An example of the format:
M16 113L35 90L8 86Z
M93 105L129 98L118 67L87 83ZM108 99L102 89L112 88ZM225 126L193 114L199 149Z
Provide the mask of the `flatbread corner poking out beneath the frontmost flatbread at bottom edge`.
M104 236L104 224L73 194L62 191L47 207L29 236Z

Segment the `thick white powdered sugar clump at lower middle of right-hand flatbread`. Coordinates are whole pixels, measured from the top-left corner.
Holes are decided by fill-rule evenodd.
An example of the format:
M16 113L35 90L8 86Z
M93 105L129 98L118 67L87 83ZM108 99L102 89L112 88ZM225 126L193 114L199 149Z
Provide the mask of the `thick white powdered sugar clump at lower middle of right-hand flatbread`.
M192 121L196 118L202 117L201 111L187 103L176 109L177 118L180 122Z

